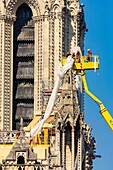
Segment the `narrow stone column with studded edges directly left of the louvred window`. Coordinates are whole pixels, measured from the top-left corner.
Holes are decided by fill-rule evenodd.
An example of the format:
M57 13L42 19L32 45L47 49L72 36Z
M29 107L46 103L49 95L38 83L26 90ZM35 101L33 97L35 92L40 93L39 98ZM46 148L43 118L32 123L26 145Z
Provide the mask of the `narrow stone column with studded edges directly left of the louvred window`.
M4 130L12 130L12 75L13 75L13 21L15 17L5 19L4 38Z

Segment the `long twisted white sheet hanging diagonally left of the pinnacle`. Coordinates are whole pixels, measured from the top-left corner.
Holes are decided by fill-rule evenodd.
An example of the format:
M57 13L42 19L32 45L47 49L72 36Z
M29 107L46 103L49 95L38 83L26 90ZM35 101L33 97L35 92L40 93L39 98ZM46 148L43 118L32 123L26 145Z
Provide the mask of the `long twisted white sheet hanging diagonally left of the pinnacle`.
M56 82L55 82L55 86L53 88L53 91L52 91L52 94L51 94L51 97L49 99L49 102L48 102L48 105L47 105L47 108L46 108L46 111L45 111L45 114L44 114L44 117L42 120L40 120L39 122L37 122L37 124L34 126L33 129L31 129L31 132L30 133L27 133L26 134L26 137L34 137L36 134L38 134L44 124L44 122L50 117L50 114L52 112L52 109L53 109L53 106L55 104L55 99L56 99L56 95L57 95L57 91L59 89L59 85L60 85L60 80L63 78L64 74L72 68L73 66L73 58L72 56L70 55L67 60L66 60L66 63L64 66L62 66L62 64L60 63L59 64L59 67L58 67L58 76L57 76L57 79L56 79Z

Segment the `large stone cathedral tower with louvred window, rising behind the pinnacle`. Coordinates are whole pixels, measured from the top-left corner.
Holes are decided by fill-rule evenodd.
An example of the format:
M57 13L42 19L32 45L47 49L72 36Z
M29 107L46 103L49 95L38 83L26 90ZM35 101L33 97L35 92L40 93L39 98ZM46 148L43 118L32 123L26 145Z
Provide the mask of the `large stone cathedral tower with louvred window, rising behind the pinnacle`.
M29 124L52 89L58 62L84 47L79 0L0 0L0 130Z

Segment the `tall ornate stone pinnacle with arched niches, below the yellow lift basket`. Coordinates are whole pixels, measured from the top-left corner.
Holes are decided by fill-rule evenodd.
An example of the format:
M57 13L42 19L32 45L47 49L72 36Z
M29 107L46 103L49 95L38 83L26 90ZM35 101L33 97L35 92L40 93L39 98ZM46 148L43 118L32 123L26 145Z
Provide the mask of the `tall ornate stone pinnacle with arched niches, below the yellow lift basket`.
M55 163L63 165L62 169L91 170L92 157L95 157L95 140L91 136L90 126L84 121L73 75L73 72L69 71L64 77L59 109L55 117L55 153L60 158L56 158ZM87 156L88 154L92 156Z

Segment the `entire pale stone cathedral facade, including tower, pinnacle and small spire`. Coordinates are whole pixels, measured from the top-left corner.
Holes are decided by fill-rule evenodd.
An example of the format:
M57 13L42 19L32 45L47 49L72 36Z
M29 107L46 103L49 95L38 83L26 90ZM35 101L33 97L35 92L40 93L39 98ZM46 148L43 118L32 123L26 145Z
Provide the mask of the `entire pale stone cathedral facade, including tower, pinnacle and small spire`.
M2 144L15 141L17 131L13 130L19 129L20 118L27 126L47 104L50 93L45 92L48 89L51 92L54 86L61 57L75 46L84 52L86 24L79 0L0 0L0 3L0 148L3 150ZM6 157L2 155L3 167L9 169L13 162L13 169L25 166L38 170L92 169L95 140L84 122L82 83L74 74L69 71L62 82L49 145L36 145L36 157L22 132ZM17 165L20 160L22 167Z

